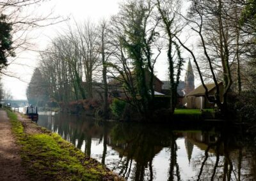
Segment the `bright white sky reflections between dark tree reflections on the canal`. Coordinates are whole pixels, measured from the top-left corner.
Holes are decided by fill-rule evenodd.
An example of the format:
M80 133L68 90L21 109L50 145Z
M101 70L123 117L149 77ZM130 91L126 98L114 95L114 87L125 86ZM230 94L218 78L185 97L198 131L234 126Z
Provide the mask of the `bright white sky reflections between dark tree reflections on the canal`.
M83 119L81 119L82 121L79 120L77 122L76 122L76 120L72 120L72 121L68 120L68 119L70 119L69 117L67 118L67 120L60 120L60 117L57 117L57 116L58 115L55 115L55 116L54 115L52 115L52 116L40 115L38 124L40 126L44 126L44 127L47 127L48 129L54 130L55 133L60 134L63 138L65 137L65 139L67 141L73 142L76 145L76 147L81 147L81 150L83 152L86 152L86 140L85 139L87 139L86 136L88 136L87 133L84 132L84 129L87 131L92 131L92 133L91 133L92 134L92 143L91 143L91 149L90 149L91 157L97 159L97 161L99 161L101 163L102 153L104 150L103 138L101 137L101 139L100 139L100 136L103 136L102 126L99 126L99 125L95 126L94 124L83 124L84 123ZM62 117L62 119L63 119L63 117ZM85 127L84 127L84 125L85 125ZM76 126L77 126L78 132L82 131L82 132L79 132L79 134L83 134L82 137L79 136L79 134L74 136L77 131ZM79 126L83 126L83 128L79 127ZM64 131L63 127L65 127L65 129L66 129L65 131ZM96 133L93 132L95 127L97 128ZM112 130L112 127L110 130ZM134 174L136 171L136 161L134 159L132 159L131 161L129 161L128 167L125 167L125 163L127 162L127 155L124 154L124 156L122 156L122 157L120 156L120 154L122 153L122 150L121 150L121 152L120 152L120 150L116 150L116 148L118 148L118 147L116 147L116 145L113 145L112 143L110 143L113 140L111 140L109 137L110 133L109 132L107 132L107 133L108 133L107 140L109 142L108 142L108 145L106 146L107 147L106 157L105 157L106 166L109 169L113 170L115 173L118 173L122 177L127 178L127 180L133 180ZM159 131L159 133L161 133L161 131ZM201 146L196 145L197 144L196 142L195 142L195 144L191 142L190 143L191 144L190 145L191 146L190 147L191 148L191 159L190 159L190 163L189 163L188 143L187 144L185 143L186 137L182 137L182 134L180 134L180 133L178 133L178 134L179 134L179 136L178 136L179 138L177 138L177 140L175 140L175 141L177 144L177 163L179 165L180 179L181 180L197 180L197 176L200 171L201 163L205 156L204 148L202 148L202 145ZM96 135L96 136L93 137L93 135ZM77 136L79 136L79 137L77 137ZM202 135L197 134L197 133L196 133L196 136L197 136L196 138L198 138L199 140L203 138ZM83 138L83 140L78 140L77 138ZM151 138L151 137L148 137L148 138ZM158 138L158 136L157 136L157 138ZM80 142L80 146L78 146L79 142ZM151 142L147 142L147 143L151 144ZM159 147L159 145L155 145L155 149L156 150L158 149L158 150L156 151L156 154L154 155L154 157L152 159L152 170L153 170L153 175L154 175L153 178L154 178L154 180L159 180L159 181L168 180L169 171L170 171L171 148L170 147ZM234 161L234 170L235 170L234 173L236 172L236 167L237 167L236 156L237 156L236 152L230 152L230 157ZM220 165L219 166L221 167L221 169L223 169L223 161L224 161L224 157L220 156L220 164L222 164L222 167ZM205 162L208 166L204 167L204 170L202 172L202 177L201 177L202 180L205 180L205 179L207 180L207 179L211 178L211 173L212 173L212 169L213 169L215 162L216 162L215 154L213 154L212 152L209 152L209 158ZM241 172L243 174L244 173L250 174L250 171L248 171L248 169L246 169L246 164L248 164L248 160L244 159L242 161L242 163L245 167L242 168ZM124 171L124 170L126 170L126 171ZM173 173L175 173L175 171L176 171L176 168L174 168ZM149 180L150 179L149 166L146 166L144 173L145 173L144 179ZM218 173L216 173L216 175L218 175L218 176L221 176L222 174L223 173L221 171L218 171ZM128 175L129 175L129 177L127 177ZM232 178L235 178L235 176L232 175ZM177 180L177 177L174 177L174 179Z

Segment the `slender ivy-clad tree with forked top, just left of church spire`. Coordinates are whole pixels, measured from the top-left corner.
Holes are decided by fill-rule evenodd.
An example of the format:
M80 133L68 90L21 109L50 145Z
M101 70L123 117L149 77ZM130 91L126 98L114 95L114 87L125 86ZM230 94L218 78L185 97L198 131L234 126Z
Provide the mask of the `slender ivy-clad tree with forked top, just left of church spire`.
M177 35L182 29L180 24L180 1L157 0L157 9L159 11L164 34L166 34L169 65L169 79L170 79L170 110L174 112L177 104L177 88L179 86L180 73L184 60L180 55L180 47L175 41ZM176 57L175 57L176 54Z

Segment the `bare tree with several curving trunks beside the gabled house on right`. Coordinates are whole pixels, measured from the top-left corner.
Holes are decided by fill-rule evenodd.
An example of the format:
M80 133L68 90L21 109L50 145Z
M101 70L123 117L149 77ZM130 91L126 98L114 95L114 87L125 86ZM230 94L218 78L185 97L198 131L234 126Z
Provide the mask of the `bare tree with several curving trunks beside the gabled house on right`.
M191 7L187 17L184 19L188 22L191 29L198 35L200 40L201 55L207 62L209 78L215 83L216 94L212 100L218 105L222 113L227 113L227 95L233 83L230 66L232 65L232 42L234 42L234 26L230 23L228 15L231 13L231 1L191 1ZM189 49L186 43L179 41L193 57L196 69L200 76L200 80L205 88L205 96L209 99L208 90L204 83L204 74L199 59L196 57L195 51ZM233 56L234 57L234 56ZM223 100L221 98L219 80L216 71L218 68L222 73L224 84Z

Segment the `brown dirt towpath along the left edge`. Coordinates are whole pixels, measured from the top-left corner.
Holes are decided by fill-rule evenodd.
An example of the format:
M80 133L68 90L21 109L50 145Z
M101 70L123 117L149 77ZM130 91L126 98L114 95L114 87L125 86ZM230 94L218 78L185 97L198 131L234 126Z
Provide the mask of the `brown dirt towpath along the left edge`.
M10 121L6 112L0 110L0 180L28 180L20 162Z

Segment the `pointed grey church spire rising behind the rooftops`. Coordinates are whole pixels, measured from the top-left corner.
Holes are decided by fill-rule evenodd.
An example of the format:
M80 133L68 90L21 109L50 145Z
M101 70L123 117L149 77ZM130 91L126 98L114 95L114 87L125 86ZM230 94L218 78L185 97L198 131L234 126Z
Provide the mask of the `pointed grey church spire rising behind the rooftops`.
M185 75L185 94L188 94L194 89L195 89L195 76L194 76L193 68L189 59L188 68Z

